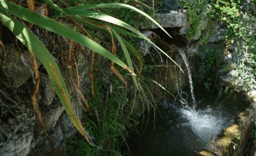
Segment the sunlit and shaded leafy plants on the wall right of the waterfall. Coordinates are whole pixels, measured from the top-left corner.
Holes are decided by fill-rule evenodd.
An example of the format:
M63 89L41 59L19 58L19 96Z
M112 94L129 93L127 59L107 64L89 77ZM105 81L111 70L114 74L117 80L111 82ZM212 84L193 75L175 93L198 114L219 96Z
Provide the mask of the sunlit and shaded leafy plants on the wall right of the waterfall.
M187 9L188 19L190 27L187 32L187 38L192 40L198 33L202 31L202 35L199 38L199 43L205 45L209 41L211 32L215 30L213 27L216 24L225 29L225 41L222 43L226 44L225 48L220 48L218 52L209 55L206 51L205 57L205 69L204 72L199 72L199 81L204 80L204 75L207 74L205 71L211 66L211 60L214 61L216 66L220 58L215 58L219 51L222 50L223 55L227 53L228 48L232 47L232 52L236 52L239 56L234 61L233 66L238 71L236 79L238 80L239 90L252 90L256 89L256 72L255 72L255 4L256 1L250 1L244 3L243 1L229 0L215 0L215 1L202 1L193 0L183 3L184 9ZM214 22L212 22L214 21ZM205 25L206 22L206 25ZM202 26L204 25L204 26ZM200 34L199 34L200 35ZM223 59L223 58L222 58ZM210 62L209 62L210 60ZM225 64L223 64L225 67ZM215 65L214 65L215 66ZM220 69L221 66L218 67ZM203 67L204 68L204 67ZM214 68L216 69L216 68ZM208 81L208 80L207 80ZM207 87L213 83L206 82Z

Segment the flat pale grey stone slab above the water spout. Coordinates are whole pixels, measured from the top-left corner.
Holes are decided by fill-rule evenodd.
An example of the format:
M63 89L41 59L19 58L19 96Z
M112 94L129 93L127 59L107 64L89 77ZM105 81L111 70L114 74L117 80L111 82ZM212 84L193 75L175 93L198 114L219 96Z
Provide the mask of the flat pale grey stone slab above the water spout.
M171 13L156 13L154 18L159 21L162 27L184 27L188 25L187 15L182 12L172 11ZM147 25L142 29L157 29L156 24Z

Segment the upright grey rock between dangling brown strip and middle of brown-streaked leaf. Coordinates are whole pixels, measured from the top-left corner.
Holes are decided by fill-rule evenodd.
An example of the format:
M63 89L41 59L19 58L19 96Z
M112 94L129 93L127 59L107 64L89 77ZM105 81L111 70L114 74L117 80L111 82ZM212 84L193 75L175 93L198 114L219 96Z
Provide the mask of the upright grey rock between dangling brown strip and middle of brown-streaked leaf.
M54 87L51 83L51 80L48 76L41 76L40 79L40 94L42 99L40 100L40 104L45 106L49 106L52 104L53 98L55 96Z

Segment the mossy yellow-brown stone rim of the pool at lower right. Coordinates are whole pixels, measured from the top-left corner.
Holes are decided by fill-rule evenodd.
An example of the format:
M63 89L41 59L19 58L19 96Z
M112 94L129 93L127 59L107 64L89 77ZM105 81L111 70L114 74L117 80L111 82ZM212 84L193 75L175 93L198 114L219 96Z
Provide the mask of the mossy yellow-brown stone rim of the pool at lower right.
M252 120L255 118L255 101L256 99L253 98L250 106L237 116L236 122L209 143L208 151L201 151L196 154L205 156L241 155L252 131Z

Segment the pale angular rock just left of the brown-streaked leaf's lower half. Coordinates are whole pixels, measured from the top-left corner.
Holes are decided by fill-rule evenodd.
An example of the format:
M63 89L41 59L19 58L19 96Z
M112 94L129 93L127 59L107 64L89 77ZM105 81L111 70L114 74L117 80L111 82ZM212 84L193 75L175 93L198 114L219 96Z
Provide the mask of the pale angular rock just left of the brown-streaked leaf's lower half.
M55 126L63 110L63 106L59 105L56 108L51 108L49 111L42 113L46 129L50 129Z

